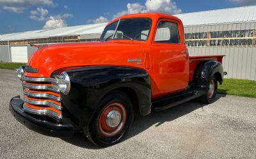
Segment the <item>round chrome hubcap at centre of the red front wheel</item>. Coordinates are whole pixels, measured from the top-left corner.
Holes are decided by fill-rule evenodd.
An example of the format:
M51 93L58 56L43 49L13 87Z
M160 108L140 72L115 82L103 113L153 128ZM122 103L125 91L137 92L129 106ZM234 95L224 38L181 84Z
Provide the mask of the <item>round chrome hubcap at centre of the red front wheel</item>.
M106 125L110 128L115 128L119 125L122 117L118 110L111 110L106 117Z

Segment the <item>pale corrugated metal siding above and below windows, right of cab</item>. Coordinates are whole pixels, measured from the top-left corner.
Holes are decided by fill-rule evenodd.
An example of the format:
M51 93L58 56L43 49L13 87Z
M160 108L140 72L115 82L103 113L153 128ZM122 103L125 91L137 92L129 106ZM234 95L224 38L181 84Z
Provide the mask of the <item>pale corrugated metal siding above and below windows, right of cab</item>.
M207 31L231 31L256 29L256 22L247 24L222 24L215 26L185 27L185 33ZM256 46L254 45L220 45L220 46L189 46L191 56L224 54L223 67L227 78L256 80Z

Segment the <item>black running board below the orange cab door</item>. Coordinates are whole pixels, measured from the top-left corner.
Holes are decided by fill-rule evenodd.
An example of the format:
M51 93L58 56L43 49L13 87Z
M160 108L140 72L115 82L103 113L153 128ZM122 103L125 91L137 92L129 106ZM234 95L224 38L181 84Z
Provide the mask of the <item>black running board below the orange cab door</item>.
M160 98L157 100L152 101L152 107L156 111L161 111L168 109L170 107L173 107L175 105L179 105L184 102L188 102L189 100L198 98L199 96L202 96L205 94L205 91L203 90L188 90L188 91L182 91L180 93L175 93L170 96L166 96L164 98Z

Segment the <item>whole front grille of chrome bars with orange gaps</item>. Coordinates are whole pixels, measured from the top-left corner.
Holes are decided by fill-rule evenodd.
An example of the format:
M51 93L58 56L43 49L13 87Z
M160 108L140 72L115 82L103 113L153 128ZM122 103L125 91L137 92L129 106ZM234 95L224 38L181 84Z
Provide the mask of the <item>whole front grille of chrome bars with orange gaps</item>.
M60 90L54 78L22 76L25 112L62 119Z

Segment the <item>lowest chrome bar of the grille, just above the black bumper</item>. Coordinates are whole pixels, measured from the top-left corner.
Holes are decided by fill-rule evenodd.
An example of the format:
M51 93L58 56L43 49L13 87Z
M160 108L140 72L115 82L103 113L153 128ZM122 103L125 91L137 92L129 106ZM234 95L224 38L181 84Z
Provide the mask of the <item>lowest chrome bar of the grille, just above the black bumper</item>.
M31 109L29 107L27 107L25 105L25 103L23 104L23 110L25 112L29 112L31 114L36 114L36 115L47 115L47 116L50 116L50 117L55 117L57 119L62 119L62 115L61 114L58 114L57 112L54 112L52 110L47 110L47 109Z

